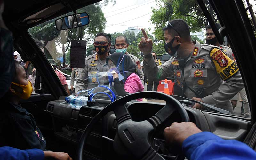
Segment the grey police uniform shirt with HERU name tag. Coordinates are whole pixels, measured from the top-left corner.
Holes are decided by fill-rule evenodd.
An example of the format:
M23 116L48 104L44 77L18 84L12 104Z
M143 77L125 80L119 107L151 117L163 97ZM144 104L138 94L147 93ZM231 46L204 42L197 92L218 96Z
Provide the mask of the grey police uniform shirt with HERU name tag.
M108 56L110 54L108 53ZM81 90L91 89L98 85L104 85L103 78L100 78L100 72L109 70L106 62L102 62L97 53L89 55L85 59L85 67L80 68L77 75L76 93Z

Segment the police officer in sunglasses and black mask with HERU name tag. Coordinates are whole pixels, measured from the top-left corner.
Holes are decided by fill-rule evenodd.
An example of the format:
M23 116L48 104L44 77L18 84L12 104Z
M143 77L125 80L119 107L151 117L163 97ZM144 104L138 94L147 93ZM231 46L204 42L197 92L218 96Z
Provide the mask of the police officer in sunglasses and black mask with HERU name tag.
M86 57L85 67L79 69L75 91L91 89L98 85L103 85L103 79L100 78L100 72L109 70L106 58L110 55L110 38L106 33L98 33L94 38L94 48L96 53Z

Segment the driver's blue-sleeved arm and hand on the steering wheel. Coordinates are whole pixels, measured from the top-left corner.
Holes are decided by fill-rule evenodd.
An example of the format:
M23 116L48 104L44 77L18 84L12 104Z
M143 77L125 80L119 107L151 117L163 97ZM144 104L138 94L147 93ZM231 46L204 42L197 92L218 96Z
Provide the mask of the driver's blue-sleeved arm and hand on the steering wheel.
M172 123L164 129L166 142L182 147L193 160L251 160L256 152L237 140L223 140L211 132L202 132L192 122Z

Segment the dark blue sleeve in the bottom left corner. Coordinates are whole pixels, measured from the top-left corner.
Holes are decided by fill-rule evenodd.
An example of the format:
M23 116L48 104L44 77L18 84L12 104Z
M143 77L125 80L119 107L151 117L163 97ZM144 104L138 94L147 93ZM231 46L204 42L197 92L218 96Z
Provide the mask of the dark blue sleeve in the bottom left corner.
M44 160L41 149L20 150L12 147L0 147L0 160Z

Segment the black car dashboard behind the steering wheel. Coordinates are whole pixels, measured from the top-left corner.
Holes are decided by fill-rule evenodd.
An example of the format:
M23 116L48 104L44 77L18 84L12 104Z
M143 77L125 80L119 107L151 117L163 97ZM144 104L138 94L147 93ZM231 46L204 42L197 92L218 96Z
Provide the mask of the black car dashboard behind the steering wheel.
M51 101L47 104L47 112L52 116L53 130L56 137L68 143L79 141L86 126L94 116L105 106L111 103L110 100L94 99L96 103L92 106L82 106L81 108L72 107L65 101L65 97L59 100ZM143 121L155 115L164 103L156 102L127 102L127 109L133 121ZM243 141L246 133L251 128L250 122L231 115L216 114L204 112L195 108L185 107L190 121L202 131L212 132L224 139L236 139ZM177 111L160 126L154 133L154 139L150 142L151 146L158 152L165 154L165 151L159 147L165 145L163 131L165 127L170 126L173 122L181 122L181 117ZM84 147L84 155L91 159L104 159L113 155L113 147L107 139L114 139L117 130L117 121L114 112L109 112L104 116L97 125L94 126Z

